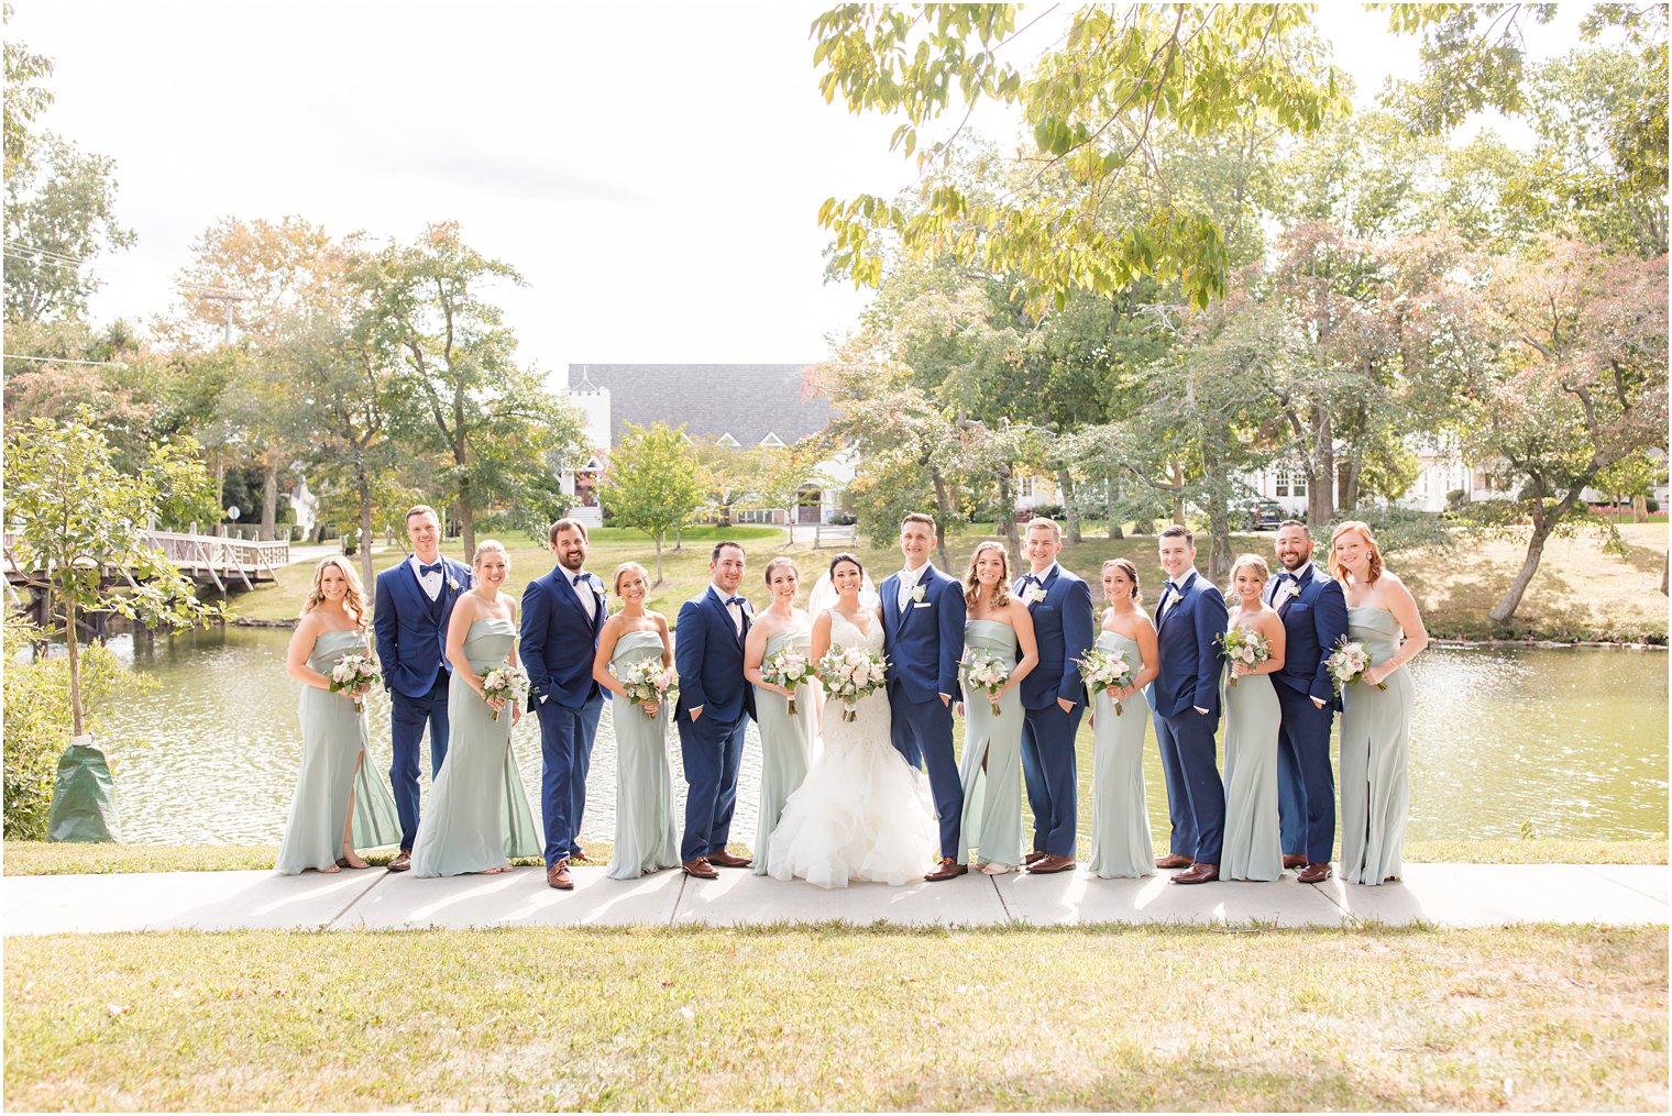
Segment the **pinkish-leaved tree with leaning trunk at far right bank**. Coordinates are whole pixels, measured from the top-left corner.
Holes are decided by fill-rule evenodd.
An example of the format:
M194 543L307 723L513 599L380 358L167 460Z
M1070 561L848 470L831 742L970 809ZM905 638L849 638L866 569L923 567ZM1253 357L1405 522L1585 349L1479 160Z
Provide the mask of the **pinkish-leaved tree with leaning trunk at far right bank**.
M1667 261L1548 242L1500 261L1486 291L1500 356L1473 389L1465 441L1525 481L1532 535L1520 571L1493 606L1506 625L1548 538L1583 511L1580 495L1667 433Z

